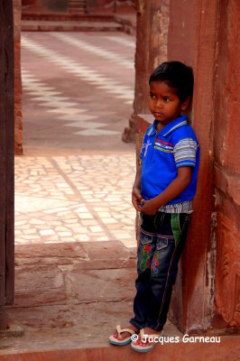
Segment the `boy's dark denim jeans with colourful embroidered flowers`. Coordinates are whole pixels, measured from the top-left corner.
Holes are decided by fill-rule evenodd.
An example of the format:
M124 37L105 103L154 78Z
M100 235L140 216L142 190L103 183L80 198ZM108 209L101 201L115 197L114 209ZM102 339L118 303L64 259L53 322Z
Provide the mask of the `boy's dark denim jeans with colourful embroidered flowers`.
M149 327L160 331L167 319L172 286L176 281L181 251L187 240L190 214L157 212L142 215L134 318L137 329Z

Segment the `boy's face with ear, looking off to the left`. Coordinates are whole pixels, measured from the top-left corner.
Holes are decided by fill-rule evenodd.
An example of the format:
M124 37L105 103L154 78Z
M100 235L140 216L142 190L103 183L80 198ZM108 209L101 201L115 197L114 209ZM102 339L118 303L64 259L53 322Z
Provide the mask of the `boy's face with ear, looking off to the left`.
M180 116L181 110L189 106L189 98L180 104L177 89L169 87L164 81L152 81L150 84L149 110L162 125L168 125Z

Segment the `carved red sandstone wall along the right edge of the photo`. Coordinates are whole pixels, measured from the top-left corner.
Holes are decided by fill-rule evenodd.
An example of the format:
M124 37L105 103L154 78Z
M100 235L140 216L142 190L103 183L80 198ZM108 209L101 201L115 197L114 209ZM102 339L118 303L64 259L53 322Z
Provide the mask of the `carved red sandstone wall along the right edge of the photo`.
M239 1L218 8L214 174L217 204L217 310L230 326L240 325L240 42Z

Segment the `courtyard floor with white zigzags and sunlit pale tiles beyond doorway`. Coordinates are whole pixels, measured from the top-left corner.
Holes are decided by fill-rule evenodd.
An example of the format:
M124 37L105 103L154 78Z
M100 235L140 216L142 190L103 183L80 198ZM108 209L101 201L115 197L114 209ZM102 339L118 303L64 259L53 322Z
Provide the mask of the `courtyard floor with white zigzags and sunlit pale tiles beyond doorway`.
M23 149L15 157L15 243L135 246L134 37L23 32Z

